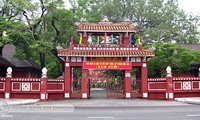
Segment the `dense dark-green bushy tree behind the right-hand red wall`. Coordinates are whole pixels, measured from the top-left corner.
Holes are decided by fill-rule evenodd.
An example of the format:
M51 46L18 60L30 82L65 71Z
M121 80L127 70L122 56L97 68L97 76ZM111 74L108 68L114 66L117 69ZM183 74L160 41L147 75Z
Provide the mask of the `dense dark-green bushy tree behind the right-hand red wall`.
M166 76L166 68L170 66L174 74L188 72L191 65L200 60L200 52L183 48L181 45L156 43L155 57L148 61L149 77Z

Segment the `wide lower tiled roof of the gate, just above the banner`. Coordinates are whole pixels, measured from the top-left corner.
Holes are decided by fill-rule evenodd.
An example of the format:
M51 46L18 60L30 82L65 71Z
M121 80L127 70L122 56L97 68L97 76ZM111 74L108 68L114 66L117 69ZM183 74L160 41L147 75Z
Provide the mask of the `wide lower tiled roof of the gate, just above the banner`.
M71 48L58 50L58 56L82 57L127 57L127 56L154 56L151 50L74 50Z

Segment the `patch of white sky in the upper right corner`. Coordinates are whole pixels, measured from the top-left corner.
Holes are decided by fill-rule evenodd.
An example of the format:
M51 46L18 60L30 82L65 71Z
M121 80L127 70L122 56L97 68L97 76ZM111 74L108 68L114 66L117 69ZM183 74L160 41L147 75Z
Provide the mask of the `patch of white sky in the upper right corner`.
M186 13L200 15L200 0L178 0L179 8L183 9Z

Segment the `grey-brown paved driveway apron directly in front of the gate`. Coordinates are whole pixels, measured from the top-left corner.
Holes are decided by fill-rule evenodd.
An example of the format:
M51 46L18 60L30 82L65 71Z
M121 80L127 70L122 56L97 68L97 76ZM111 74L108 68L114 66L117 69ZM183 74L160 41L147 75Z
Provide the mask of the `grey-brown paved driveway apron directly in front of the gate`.
M38 102L35 105L73 105L75 107L139 107L139 106L183 106L187 103L150 99L69 99Z

